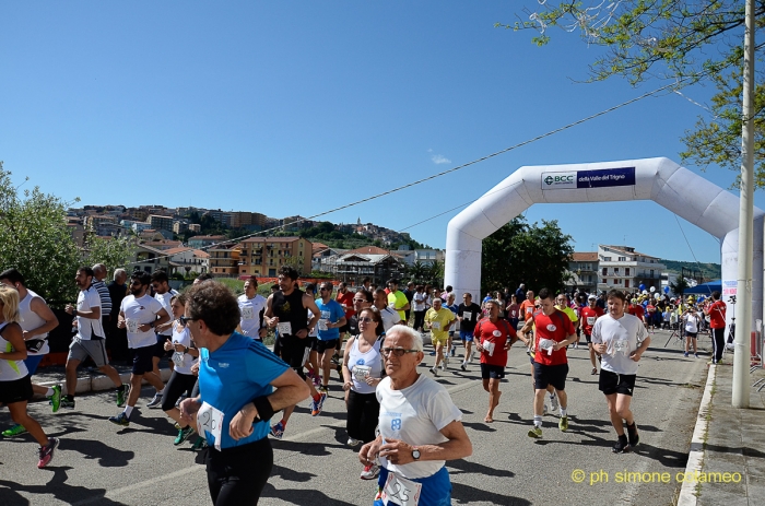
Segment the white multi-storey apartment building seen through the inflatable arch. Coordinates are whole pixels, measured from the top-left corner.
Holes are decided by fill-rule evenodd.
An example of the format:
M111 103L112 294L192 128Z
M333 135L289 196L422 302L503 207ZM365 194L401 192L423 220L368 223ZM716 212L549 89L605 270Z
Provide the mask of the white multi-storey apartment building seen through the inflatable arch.
M667 266L657 257L635 251L629 246L598 245L598 290L636 290L640 284L661 290Z

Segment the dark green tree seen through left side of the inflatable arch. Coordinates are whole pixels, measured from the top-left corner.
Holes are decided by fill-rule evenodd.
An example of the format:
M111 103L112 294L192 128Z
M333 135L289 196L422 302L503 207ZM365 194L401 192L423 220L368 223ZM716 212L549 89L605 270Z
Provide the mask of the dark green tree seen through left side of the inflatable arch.
M483 239L481 293L520 283L533 291L563 287L574 252L570 242L556 220L542 220L539 226L529 225L523 216L514 217Z

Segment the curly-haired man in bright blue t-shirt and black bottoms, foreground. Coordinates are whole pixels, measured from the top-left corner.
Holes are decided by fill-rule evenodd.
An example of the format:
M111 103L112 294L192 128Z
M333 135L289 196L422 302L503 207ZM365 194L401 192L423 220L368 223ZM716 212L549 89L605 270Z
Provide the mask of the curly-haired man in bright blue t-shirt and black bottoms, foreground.
M213 504L256 505L273 467L269 420L306 399L308 386L264 345L235 332L239 306L225 285L200 283L186 297L201 395L180 403L180 417L208 440Z

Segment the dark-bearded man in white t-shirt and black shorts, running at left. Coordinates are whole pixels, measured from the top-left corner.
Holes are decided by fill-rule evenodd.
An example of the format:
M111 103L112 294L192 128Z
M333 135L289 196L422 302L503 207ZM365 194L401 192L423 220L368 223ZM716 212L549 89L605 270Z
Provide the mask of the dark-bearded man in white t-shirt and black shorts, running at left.
M168 322L170 316L160 301L149 295L151 280L149 272L133 272L130 276L130 295L122 299L119 308L117 327L128 329L128 346L133 353L133 368L130 374L128 405L117 416L110 416L109 422L123 427L130 425L130 415L141 395L144 377L156 391L163 391L165 388L162 378L153 370L152 360L156 348L154 330L157 325Z

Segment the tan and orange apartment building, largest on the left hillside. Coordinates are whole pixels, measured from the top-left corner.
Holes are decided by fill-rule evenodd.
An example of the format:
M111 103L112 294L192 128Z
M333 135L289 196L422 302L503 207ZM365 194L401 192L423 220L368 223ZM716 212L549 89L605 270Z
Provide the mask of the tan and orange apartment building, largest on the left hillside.
M301 237L250 237L240 244L239 275L275 278L279 268L292 266L301 275L310 274L313 245ZM212 268L212 264L211 264Z

